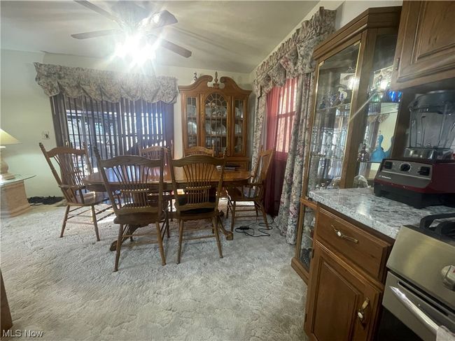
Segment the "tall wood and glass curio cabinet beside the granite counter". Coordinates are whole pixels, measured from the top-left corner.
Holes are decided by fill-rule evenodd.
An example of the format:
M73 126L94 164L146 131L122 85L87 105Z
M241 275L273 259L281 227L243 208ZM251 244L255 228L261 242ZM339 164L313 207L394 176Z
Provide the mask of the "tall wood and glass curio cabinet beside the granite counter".
M305 282L314 256L314 189L367 187L391 153L402 94L391 89L401 7L370 8L314 50L310 118L295 256Z

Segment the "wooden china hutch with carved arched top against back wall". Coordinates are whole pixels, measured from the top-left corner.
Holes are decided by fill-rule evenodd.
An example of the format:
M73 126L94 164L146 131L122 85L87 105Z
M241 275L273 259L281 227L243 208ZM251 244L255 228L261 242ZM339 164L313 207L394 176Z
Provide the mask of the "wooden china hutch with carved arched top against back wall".
M218 73L202 75L191 85L180 86L183 148L214 148L226 153L227 166L248 169L248 96L250 90Z

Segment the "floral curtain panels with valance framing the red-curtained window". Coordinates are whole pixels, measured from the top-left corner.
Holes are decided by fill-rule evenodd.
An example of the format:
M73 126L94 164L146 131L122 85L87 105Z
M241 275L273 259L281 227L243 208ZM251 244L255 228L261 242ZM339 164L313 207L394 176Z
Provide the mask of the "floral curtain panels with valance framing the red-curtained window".
M252 157L255 164L262 140L267 93L274 86L284 85L286 79L299 76L293 136L286 163L280 210L275 220L281 234L286 235L286 242L290 244L295 244L297 234L299 198L302 194L304 175L304 153L309 147L311 135L308 131L308 117L312 108L316 66L312 55L316 45L335 31L335 16L335 10L319 8L310 20L302 22L302 26L288 41L281 44L276 52L262 62L256 70L256 78L253 82L253 89L257 96Z

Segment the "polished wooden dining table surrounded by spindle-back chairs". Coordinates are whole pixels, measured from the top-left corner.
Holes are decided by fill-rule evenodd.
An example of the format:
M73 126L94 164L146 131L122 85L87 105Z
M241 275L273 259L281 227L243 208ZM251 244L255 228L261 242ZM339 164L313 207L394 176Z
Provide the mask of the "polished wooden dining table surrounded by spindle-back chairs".
M183 189L186 187L186 184L188 183L186 179L186 175L183 171L183 168L174 168L174 175L176 177L176 184L177 188ZM212 176L212 181L213 182L218 182L220 179L221 172L219 170L216 170L214 175ZM106 171L106 176L108 177L109 183L113 188L116 187L116 184L120 186L120 183L118 182L118 179L116 175L113 173L111 169L108 169ZM248 170L225 170L224 175L223 175L223 187L235 187L235 186L241 186L242 184L245 184L248 182L248 180L251 177L251 173ZM158 172L154 173L153 171L149 172L147 174L146 179L144 179L144 182L147 182L148 184L153 184L156 183L158 187L158 183L160 182L160 174ZM164 174L163 174L163 182L164 182L164 191L172 191L172 178L171 178L171 172L169 169L169 166L165 166L164 169ZM99 192L105 192L106 187L104 186L104 181L102 174L99 172L94 172L90 175L87 175L83 179L83 184L85 184L85 187L90 190L90 191L99 191ZM140 226L135 226L136 228ZM134 226L132 226L134 228ZM223 224L220 224L220 229L221 232L226 236L227 240L232 240L233 235L231 231L227 231ZM111 251L114 251L116 249L116 242L113 242L111 244Z

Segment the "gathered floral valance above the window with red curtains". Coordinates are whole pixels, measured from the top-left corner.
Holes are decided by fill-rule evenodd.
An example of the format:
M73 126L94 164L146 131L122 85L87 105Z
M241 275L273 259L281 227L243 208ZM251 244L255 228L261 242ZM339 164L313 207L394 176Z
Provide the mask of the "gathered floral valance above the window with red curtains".
M275 85L282 86L286 78L311 73L315 68L313 50L335 31L336 10L319 8L310 20L302 22L287 41L256 69L253 81L255 94L267 94Z

